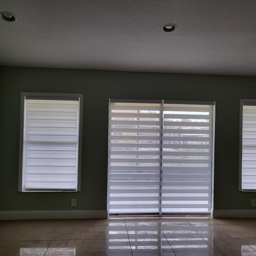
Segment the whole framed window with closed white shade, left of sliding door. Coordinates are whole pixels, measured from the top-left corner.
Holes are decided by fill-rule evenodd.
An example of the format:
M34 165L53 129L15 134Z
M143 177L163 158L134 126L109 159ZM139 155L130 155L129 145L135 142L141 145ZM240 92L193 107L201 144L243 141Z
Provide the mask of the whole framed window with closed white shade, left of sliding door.
M82 94L21 93L19 191L79 191Z

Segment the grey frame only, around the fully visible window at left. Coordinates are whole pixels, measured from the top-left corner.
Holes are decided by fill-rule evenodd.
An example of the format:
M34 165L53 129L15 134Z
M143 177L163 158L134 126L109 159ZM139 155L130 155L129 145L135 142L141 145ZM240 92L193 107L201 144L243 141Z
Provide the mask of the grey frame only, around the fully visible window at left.
M25 190L23 187L23 147L24 147L24 104L26 96L38 100L74 100L78 98L78 154L77 154L77 180L76 190ZM82 168L82 124L83 124L83 94L74 93L44 93L44 92L21 92L20 93L20 144L18 166L18 192L78 192L81 191L81 168Z

